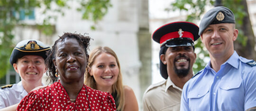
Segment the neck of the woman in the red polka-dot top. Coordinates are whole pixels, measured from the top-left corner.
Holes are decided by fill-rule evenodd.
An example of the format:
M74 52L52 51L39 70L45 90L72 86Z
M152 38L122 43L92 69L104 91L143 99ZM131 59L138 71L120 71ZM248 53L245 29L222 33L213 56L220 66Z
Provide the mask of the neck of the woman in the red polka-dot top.
M60 80L60 83L66 90L70 99L76 99L77 95L79 94L80 90L83 87L83 80L74 81L71 83L67 83Z

